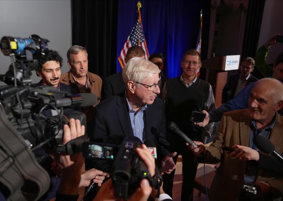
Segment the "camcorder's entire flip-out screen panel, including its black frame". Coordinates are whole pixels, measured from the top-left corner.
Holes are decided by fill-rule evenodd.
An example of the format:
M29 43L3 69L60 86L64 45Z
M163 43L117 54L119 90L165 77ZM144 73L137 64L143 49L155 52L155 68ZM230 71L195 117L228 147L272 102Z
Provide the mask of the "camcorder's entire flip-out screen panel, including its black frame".
M113 161L117 154L117 145L84 142L82 153L84 158Z

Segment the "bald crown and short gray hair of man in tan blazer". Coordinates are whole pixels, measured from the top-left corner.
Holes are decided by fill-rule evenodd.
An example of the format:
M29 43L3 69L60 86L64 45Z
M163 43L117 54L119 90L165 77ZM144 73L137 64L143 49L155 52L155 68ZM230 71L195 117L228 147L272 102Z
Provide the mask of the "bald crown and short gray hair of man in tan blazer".
M277 79L274 78L264 78L260 79L256 82L254 87L256 86L267 86L269 91L271 92L272 99L275 103L278 103L279 101L283 100L283 84ZM253 88L254 88L253 87Z

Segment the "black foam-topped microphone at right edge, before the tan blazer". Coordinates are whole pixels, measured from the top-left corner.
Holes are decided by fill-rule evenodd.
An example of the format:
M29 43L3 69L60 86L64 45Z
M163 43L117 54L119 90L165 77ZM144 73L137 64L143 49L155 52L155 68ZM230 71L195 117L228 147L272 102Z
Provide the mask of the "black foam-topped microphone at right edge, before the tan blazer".
M279 161L283 163L283 157L281 154L279 154L277 151L275 151L275 147L272 144L272 142L264 137L263 135L256 135L253 138L253 143L261 150L264 151L265 153L269 153L275 158L277 158Z

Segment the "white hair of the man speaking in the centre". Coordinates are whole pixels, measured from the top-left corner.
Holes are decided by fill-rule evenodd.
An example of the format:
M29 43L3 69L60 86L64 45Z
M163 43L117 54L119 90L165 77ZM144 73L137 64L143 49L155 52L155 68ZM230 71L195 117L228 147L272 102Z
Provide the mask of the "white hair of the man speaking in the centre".
M160 69L151 61L140 57L131 58L123 68L123 81L127 86L128 81L142 82L148 76L160 73Z

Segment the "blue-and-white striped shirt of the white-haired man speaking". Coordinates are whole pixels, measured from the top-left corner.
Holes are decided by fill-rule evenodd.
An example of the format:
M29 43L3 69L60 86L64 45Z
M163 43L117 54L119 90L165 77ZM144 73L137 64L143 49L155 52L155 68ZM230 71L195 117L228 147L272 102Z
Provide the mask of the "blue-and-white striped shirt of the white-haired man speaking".
M147 108L147 105L143 105L136 112L132 109L127 96L126 96L127 104L129 107L129 115L131 119L132 129L135 137L138 137L142 142L145 142L145 116L143 115L144 111Z

